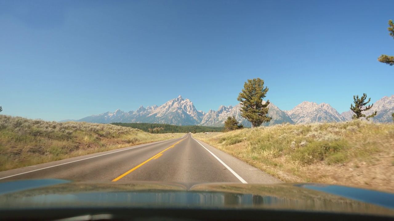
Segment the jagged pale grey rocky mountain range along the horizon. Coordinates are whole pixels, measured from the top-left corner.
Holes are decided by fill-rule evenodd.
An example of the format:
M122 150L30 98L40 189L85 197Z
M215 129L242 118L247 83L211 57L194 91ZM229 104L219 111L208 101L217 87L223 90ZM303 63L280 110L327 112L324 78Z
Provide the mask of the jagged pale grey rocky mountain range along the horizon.
M263 101L265 103L265 101ZM268 116L272 120L264 123L263 126L270 126L281 123L314 123L314 122L344 122L351 120L353 113L351 110L339 114L329 104L304 101L294 107L292 110L281 110L273 103L268 105ZM189 99L183 99L182 96L171 99L163 105L139 107L137 110L124 112L122 110L115 110L115 112L105 112L102 114L87 116L80 120L80 122L92 123L167 123L173 125L203 125L203 126L223 126L225 120L229 116L235 118L245 127L251 127L251 123L241 116L241 104L233 106L221 105L218 110L209 110L203 112L197 110ZM373 118L374 122L391 122L391 113L394 112L394 95L376 101L371 110L377 110L377 116ZM70 120L63 120L70 121Z

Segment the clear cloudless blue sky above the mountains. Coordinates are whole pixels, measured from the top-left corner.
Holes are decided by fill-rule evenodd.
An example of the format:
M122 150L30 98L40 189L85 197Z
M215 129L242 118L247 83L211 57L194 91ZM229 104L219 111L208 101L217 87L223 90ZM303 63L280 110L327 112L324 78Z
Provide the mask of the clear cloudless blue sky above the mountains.
M236 105L260 77L282 110L394 94L392 0L0 0L1 114L80 119L189 98Z

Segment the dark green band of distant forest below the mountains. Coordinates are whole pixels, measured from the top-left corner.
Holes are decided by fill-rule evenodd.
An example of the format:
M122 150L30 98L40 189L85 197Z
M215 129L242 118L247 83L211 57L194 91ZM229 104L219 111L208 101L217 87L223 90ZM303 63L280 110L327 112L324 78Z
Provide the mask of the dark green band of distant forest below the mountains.
M207 127L207 126L177 126L162 123L111 123L122 127L132 127L145 132L159 133L201 133L201 132L221 132L224 127Z

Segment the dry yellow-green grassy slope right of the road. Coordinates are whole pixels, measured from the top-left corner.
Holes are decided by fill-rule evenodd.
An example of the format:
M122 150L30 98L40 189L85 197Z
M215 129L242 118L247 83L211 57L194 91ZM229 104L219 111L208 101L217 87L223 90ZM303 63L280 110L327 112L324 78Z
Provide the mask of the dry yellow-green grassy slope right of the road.
M394 191L394 124L352 121L193 134L285 182Z

